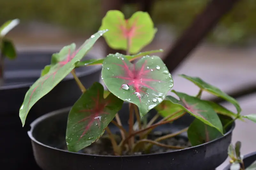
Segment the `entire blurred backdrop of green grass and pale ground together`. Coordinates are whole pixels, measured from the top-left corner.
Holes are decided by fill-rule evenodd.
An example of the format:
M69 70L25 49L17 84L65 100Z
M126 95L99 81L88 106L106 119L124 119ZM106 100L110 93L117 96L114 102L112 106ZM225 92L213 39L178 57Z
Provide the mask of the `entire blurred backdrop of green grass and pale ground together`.
M147 1L146 1L147 2ZM154 41L142 51L164 49L165 52L188 28L195 17L205 8L208 0L155 0L150 15L158 28ZM129 18L138 10L137 4L124 4L122 11ZM7 37L12 39L18 52L58 51L75 42L82 44L101 25L101 0L0 0L0 23L19 18L20 25ZM219 87L226 93L235 92L247 86L256 85L256 1L238 1L233 9L189 54L188 58L172 73L173 89L195 95L198 88L178 74L201 77L204 81ZM193 32L191 32L193 33ZM96 42L91 56L106 55L104 39ZM18 56L19 57L19 56ZM203 98L212 96L204 93ZM237 98L242 114L256 113L256 93ZM222 103L232 111L235 108ZM256 151L256 125L252 122L236 123L233 142L242 142L242 153ZM220 166L228 164L224 162Z

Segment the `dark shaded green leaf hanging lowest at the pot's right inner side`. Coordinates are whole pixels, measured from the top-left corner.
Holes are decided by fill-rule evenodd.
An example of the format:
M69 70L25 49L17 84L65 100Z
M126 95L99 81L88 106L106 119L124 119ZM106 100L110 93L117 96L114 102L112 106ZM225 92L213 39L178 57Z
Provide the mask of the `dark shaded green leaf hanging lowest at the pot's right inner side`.
M204 124L199 119L195 119L188 127L188 139L191 145L201 145L221 137L222 134L216 128Z

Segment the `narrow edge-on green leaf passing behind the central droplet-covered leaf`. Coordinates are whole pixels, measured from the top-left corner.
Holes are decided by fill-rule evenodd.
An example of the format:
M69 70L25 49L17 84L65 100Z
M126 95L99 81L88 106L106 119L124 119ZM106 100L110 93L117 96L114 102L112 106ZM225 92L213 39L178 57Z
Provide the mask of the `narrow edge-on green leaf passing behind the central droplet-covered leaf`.
M160 50L146 51L146 52L138 53L135 55L124 55L124 57L129 61L133 61L140 57L143 57L152 53L159 53L159 52L163 52L163 50L160 49ZM102 65L103 60L104 59L90 59L90 60L80 61L77 63L76 67Z

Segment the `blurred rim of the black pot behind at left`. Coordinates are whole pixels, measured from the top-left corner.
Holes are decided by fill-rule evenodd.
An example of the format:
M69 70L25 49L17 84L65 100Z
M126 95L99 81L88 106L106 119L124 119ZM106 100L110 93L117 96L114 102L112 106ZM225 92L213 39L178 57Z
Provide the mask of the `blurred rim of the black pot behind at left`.
M56 52L53 52L52 50L48 50L48 51L33 51L33 52L28 52L28 51L20 52L20 54L22 54L22 53L28 54L28 55L36 55L36 54L49 54L49 53L53 54L53 53L56 53ZM89 55L86 54L85 56L87 56L87 57L92 59L92 55L91 54L89 54ZM88 75L88 74L92 74L93 72L96 72L96 71L98 71L100 69L101 69L101 66L95 65L90 70L80 72L78 77L82 77L82 76L85 76L85 75ZM73 78L71 78L71 79L65 79L64 78L62 81L68 81L68 80L73 80ZM21 84L15 84L15 85L1 86L0 87L0 91L1 90L9 90L9 89L26 88L26 87L32 86L33 83L21 83Z

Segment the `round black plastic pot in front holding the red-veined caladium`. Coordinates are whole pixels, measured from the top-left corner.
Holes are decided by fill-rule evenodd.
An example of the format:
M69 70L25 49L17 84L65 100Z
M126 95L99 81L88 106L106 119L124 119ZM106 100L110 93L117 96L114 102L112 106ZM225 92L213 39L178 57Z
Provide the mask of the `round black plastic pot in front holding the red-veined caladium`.
M65 133L69 109L54 111L39 117L31 124L31 130L28 131L36 162L43 170L214 170L228 157L227 148L235 127L233 124L221 138L173 152L136 156L89 155L59 149L66 145ZM127 110L127 104L125 104L124 112L119 112L121 121L126 124ZM153 114L154 110L150 112L150 117ZM155 130L164 131L164 129L175 128L178 130L187 127L193 118L186 115L178 120ZM118 131L111 124L110 129L114 133Z

